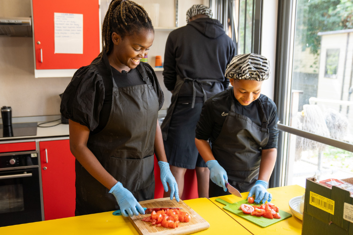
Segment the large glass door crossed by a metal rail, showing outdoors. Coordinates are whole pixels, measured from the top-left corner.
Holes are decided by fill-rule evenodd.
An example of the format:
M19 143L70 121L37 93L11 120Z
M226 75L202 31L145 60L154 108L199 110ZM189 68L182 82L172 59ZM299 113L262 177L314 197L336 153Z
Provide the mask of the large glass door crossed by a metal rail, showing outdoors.
M292 1L282 185L353 177L352 12L347 0Z

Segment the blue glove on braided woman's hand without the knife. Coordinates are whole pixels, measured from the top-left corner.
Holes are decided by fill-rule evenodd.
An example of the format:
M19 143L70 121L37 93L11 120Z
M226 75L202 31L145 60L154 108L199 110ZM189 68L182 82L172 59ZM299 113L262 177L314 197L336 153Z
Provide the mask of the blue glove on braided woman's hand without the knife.
M178 184L170 171L169 163L164 161L158 161L158 165L160 168L160 180L162 181L164 191L168 192L168 183L170 188L170 200L173 200L173 196L175 196L175 200L179 202Z

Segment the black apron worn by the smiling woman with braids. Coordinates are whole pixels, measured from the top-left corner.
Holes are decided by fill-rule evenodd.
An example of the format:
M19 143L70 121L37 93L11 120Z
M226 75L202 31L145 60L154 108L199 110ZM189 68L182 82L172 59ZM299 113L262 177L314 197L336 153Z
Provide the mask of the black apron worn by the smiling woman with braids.
M154 197L154 139L158 98L142 65L137 70L145 84L118 88L106 54L97 66L113 81L109 120L102 131L88 138L87 147L102 166L121 182L137 201ZM75 215L119 209L116 199L76 160Z

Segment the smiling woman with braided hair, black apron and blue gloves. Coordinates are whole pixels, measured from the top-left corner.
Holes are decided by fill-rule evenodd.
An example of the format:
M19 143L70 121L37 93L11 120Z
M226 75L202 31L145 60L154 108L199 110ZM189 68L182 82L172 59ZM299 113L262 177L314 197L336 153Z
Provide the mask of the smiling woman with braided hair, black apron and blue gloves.
M146 11L111 1L102 27L102 52L66 88L61 113L69 119L76 157L75 215L120 209L144 214L138 201L154 198L154 154L164 189L179 201L167 163L158 110L164 97L153 69L140 62L154 30Z

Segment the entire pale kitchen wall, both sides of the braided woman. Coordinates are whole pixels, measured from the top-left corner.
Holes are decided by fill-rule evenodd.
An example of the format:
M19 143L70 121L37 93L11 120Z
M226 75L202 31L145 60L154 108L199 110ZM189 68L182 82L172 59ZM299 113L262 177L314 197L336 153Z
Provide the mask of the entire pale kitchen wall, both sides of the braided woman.
M74 1L74 0L73 0ZM108 0L109 1L109 0ZM159 27L175 26L174 0L137 0L140 3L159 3ZM105 3L105 6L103 4ZM101 0L106 9L106 0ZM179 26L186 25L186 12L203 0L179 1ZM104 13L105 15L105 13ZM0 0L0 17L31 16L30 0ZM104 18L104 16L103 16ZM164 57L168 32L157 32L150 50L154 56ZM163 84L162 72L156 72L165 93L163 108L169 106L171 94ZM60 97L71 78L34 78L33 38L0 36L0 106L11 106L14 117L60 114Z

